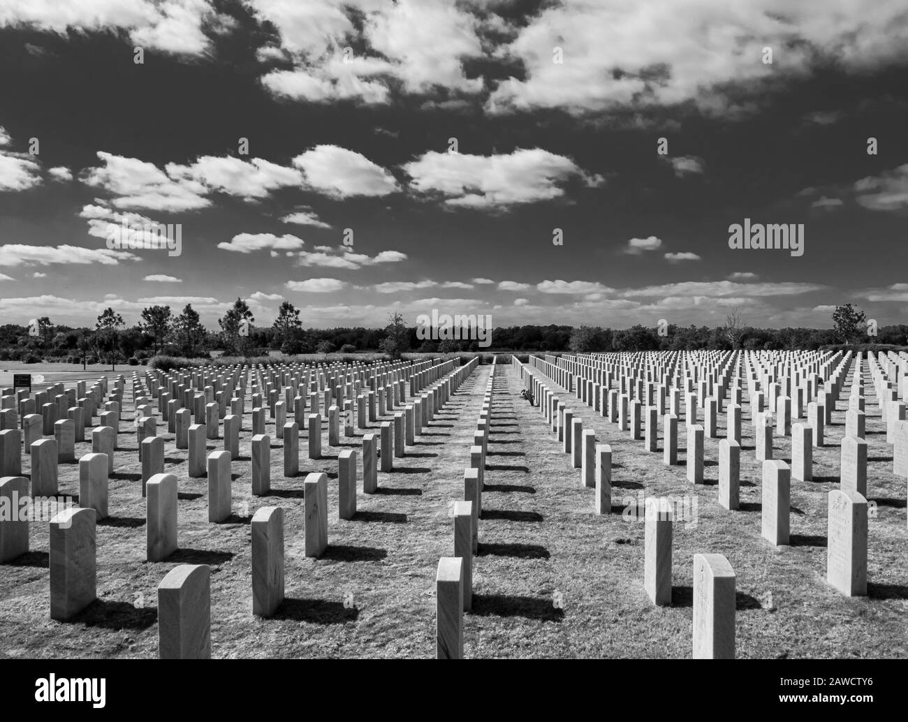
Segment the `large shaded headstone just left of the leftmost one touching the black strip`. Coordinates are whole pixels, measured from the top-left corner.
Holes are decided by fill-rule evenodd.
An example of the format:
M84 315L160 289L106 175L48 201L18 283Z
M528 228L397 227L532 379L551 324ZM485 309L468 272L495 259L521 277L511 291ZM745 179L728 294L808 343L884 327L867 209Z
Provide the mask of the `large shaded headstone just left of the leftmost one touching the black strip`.
M97 598L94 509L73 507L50 523L51 618L73 618Z

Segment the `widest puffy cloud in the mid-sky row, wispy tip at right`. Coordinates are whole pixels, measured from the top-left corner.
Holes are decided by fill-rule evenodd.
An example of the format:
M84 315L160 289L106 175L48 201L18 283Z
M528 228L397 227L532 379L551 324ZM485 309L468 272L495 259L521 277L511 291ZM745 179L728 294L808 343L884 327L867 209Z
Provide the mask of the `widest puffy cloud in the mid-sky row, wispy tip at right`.
M414 192L439 195L449 206L478 209L559 198L565 193L562 186L571 178L590 187L604 182L602 176L584 172L570 158L541 148L489 156L429 151L403 169L412 179Z

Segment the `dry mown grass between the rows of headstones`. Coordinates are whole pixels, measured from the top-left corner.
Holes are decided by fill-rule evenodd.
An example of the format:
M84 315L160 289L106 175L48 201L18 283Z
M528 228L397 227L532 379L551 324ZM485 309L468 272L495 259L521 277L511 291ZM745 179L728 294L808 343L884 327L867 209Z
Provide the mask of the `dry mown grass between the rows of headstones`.
M180 550L163 563L144 559L144 504L136 443L128 424L120 436L118 476L111 481L113 519L97 532L99 601L74 622L49 618L47 525L34 524L33 551L3 568L0 580L2 653L10 657L155 657L156 593L180 563L212 565L212 654L215 657L432 657L434 579L438 559L452 552L452 499L462 498L463 468L479 415L489 367L464 382L447 409L418 438L400 467L379 474L381 493L359 497L356 519L329 522L329 550L303 556L302 480L329 473L329 502L337 508L337 462L305 460L301 430L299 478L282 478L277 440L271 454L271 497L250 495L250 422L241 435L231 523L211 524L205 480L185 477L185 451L167 440L166 471L180 477ZM868 399L870 522L869 596L844 598L824 581L826 496L837 481L844 407L834 413L826 446L814 450L814 481L792 484L793 545L775 549L760 536L759 467L745 403L741 500L729 512L715 501L718 440L706 440L706 484L686 482L682 465L666 467L597 412L570 399L568 408L597 430L613 450L614 513L593 513L593 491L548 431L538 409L519 399L519 381L499 367L483 492L475 601L465 617L468 657L689 657L691 569L697 552L719 552L737 573L739 657L904 657L908 654L908 563L905 481L892 474L892 451ZM867 384L868 392L871 390ZM848 388L846 386L845 394ZM247 403L247 408L249 408ZM877 415L873 415L877 414ZM124 414L128 417L129 410ZM390 419L390 417L386 417ZM724 422L724 415L720 417ZM373 424L373 426L375 426ZM374 429L371 429L374 430ZM271 432L271 427L269 428ZM724 429L720 429L720 435ZM360 448L361 431L354 441ZM273 434L272 434L273 436ZM217 448L221 442L218 442ZM661 447L661 443L660 443ZM213 450L215 445L209 442ZM341 447L343 448L343 447ZM76 455L89 451L77 447ZM326 454L338 449L327 446ZM790 438L775 441L775 457L790 458ZM25 473L28 464L25 463ZM78 490L77 468L62 467L61 493ZM696 527L676 523L673 606L654 608L643 590L643 524L626 520L623 497L696 495ZM285 602L277 618L252 617L249 519L255 509L286 509ZM344 606L352 595L353 607ZM771 600L770 600L771 595ZM563 599L562 608L553 600ZM141 599L143 607L134 602Z

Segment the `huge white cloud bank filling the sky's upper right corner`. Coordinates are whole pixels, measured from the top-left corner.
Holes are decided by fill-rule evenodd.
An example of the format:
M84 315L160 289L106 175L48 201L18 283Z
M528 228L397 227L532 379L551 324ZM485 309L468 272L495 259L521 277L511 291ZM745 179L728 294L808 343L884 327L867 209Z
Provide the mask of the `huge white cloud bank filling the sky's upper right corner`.
M709 114L735 114L747 107L742 91L809 74L818 59L864 72L904 57L908 33L899 0L875 4L870 14L854 0L834 7L830 13L823 0L543 4L496 49L521 72L498 82L488 108L584 115L693 104ZM775 64L762 62L767 45ZM560 64L554 48L563 51Z

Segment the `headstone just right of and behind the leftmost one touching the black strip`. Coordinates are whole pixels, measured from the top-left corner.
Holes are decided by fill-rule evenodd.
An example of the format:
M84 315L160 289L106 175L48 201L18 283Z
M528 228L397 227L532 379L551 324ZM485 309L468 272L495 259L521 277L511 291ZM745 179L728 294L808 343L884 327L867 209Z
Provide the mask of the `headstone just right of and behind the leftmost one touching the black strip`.
M281 507L262 507L252 516L252 614L271 617L284 598Z

